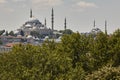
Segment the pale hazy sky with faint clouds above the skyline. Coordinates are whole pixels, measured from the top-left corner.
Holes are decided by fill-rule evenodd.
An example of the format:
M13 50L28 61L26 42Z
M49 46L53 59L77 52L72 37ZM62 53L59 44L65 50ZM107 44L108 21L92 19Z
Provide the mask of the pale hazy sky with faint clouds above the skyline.
M0 0L0 30L16 30L33 16L51 28L51 9L54 9L54 29L90 32L96 27L104 31L107 20L108 33L120 28L120 0Z

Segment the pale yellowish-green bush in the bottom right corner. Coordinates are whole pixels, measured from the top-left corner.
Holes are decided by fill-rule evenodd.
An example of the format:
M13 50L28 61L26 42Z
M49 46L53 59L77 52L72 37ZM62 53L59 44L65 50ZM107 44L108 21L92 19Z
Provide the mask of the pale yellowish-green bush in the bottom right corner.
M87 75L86 80L120 80L120 67L105 66Z

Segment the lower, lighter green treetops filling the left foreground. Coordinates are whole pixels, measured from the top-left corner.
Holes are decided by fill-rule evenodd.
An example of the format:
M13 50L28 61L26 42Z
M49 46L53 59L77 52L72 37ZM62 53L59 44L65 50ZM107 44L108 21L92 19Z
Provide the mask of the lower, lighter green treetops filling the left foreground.
M59 54L58 54L59 52ZM83 74L82 68L73 69L68 54L57 49L56 43L41 46L16 45L9 53L0 56L1 80L58 80L72 79ZM67 65L67 66L66 66ZM82 71L82 72L81 72ZM68 77L72 75L72 77Z

